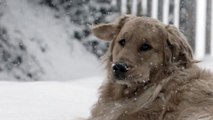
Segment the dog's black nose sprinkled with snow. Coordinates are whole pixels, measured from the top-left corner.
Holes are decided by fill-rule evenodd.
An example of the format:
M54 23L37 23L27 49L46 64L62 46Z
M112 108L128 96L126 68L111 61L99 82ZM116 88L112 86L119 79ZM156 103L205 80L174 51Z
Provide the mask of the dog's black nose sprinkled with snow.
M115 76L123 76L128 71L128 66L125 63L116 63L112 65L112 70Z

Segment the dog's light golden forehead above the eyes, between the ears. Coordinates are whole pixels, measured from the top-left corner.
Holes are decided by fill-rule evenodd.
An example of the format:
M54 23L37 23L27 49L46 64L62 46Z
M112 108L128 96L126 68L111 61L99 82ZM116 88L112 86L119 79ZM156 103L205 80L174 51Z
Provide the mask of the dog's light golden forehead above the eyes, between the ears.
M148 39L154 42L159 40L159 37L165 36L164 28L164 24L158 20L137 17L124 24L119 37L136 40Z

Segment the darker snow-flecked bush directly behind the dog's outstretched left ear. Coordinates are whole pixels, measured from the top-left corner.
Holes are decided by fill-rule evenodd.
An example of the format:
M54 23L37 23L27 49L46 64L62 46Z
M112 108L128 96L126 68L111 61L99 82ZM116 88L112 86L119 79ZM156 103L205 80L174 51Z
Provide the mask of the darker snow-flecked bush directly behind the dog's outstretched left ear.
M69 21L78 26L73 38L98 57L107 49L107 43L100 42L90 31L92 24L109 22L118 16L118 9L110 4L111 0L40 0L41 5L58 11L59 16L69 16Z

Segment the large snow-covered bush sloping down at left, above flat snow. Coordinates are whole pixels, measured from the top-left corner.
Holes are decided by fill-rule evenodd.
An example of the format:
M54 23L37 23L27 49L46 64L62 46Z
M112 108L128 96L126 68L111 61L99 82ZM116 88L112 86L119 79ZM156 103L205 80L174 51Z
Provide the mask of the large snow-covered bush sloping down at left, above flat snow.
M100 73L98 59L73 37L81 25L34 0L4 0L0 6L0 80L71 80Z

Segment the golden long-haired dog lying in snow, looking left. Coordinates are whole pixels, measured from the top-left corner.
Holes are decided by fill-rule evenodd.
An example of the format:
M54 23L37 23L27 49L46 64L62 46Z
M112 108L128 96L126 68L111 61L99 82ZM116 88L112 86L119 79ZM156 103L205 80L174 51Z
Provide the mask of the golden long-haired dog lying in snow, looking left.
M124 15L92 32L111 43L88 120L213 120L213 73L175 26Z

